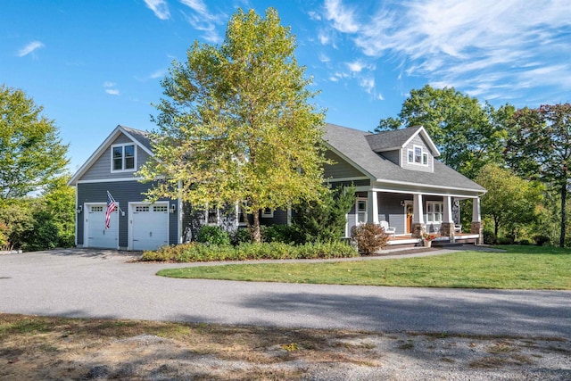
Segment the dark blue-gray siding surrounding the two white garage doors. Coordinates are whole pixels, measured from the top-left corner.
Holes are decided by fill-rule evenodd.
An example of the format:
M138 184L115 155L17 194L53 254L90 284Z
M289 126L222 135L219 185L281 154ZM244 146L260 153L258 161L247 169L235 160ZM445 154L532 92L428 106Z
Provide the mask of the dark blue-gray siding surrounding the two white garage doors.
M79 183L77 187L78 205L84 203L107 203L107 191L109 191L116 202L119 203L120 209L125 211L125 216L119 213L119 246L120 248L128 247L128 203L144 202L145 195L143 193L148 190L153 183L143 184L137 181L113 181L103 183ZM177 204L176 201L161 199L159 201L169 201L169 207ZM78 245L85 244L84 227L86 218L86 209L84 208L78 215ZM178 243L178 220L177 213L169 213L169 244Z

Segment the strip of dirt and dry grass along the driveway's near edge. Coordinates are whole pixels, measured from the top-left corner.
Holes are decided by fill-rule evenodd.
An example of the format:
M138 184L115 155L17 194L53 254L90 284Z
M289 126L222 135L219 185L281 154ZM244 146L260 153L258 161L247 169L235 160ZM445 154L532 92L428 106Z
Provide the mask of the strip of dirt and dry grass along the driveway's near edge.
M571 379L568 340L0 314L0 379Z

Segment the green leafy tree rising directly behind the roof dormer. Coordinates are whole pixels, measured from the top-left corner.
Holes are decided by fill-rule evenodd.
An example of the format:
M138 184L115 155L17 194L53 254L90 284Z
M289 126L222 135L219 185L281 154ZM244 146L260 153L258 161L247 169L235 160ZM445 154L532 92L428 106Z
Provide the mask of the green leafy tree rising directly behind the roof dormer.
M424 126L441 152L441 160L474 178L488 162L503 162L507 120L514 112L506 104L496 110L453 87L430 85L411 90L399 118L380 120L377 131Z

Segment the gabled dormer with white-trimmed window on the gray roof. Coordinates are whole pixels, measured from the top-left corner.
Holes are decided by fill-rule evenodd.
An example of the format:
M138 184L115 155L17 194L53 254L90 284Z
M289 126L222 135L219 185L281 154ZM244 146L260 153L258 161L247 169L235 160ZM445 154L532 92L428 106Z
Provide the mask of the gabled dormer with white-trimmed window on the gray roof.
M434 157L440 152L424 127L384 131L367 137L373 152L405 170L434 171Z

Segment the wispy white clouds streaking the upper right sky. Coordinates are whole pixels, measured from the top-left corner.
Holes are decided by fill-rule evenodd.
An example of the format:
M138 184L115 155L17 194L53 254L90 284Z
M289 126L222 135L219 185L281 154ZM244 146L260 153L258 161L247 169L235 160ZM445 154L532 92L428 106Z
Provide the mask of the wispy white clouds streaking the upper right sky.
M371 12L366 6L351 8L342 0L326 0L326 28L319 36L331 36L327 30L335 30L343 44L353 44L357 57L397 62L406 75L483 99L501 94L517 98L525 88L544 86L563 95L571 87L571 7L566 0L537 0L533 6L524 0L423 0L376 6ZM364 70L362 61L348 64L349 70ZM366 82L360 80L363 86Z

